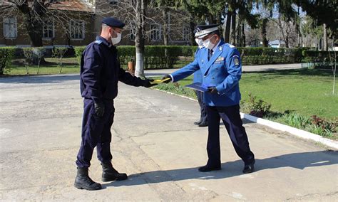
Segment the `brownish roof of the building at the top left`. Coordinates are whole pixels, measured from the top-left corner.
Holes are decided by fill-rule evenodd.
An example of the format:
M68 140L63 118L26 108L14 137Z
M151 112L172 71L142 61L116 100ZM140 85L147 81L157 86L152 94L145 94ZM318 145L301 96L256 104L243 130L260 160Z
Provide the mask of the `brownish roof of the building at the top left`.
M4 0L3 6L9 5L9 1ZM31 2L30 2L31 3ZM81 12L94 12L91 4L86 4L81 0L70 1L55 1L48 6L48 9L57 9L61 11L81 11Z

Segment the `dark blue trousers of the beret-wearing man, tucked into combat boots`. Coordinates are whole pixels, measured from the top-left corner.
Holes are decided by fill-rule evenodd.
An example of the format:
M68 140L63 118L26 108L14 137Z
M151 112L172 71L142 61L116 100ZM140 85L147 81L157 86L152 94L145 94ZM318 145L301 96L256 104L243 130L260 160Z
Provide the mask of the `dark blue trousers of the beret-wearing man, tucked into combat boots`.
M105 112L103 117L96 116L94 102L90 99L83 100L83 118L81 147L78 151L76 165L78 167L91 166L93 150L96 147L98 160L111 161L111 125L114 119L113 100L104 100Z

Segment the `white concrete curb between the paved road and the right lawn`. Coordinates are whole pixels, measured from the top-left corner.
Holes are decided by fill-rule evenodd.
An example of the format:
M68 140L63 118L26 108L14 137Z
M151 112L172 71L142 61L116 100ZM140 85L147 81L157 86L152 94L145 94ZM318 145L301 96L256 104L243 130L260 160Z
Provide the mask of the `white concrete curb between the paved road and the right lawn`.
M175 94L173 92L167 92L165 90L159 90L159 89L155 89L153 88L154 90L158 90L158 91L161 91L161 92L165 92L165 93L168 93L170 95L176 95L176 96L179 96L179 97L183 97L183 98L186 98L186 99L189 99L189 100L193 100L195 102L197 102L197 100L193 99L193 98L190 98L190 97L186 97L184 95L178 95L178 94ZM324 138L318 134L314 134L314 133L311 133L311 132L307 132L307 131L304 131L302 129L297 129L297 128L294 128L294 127L290 127L290 126L287 126L285 124L280 124L280 123L277 123L277 122L272 122L272 121L269 121L267 119L262 119L262 118L259 118L259 117L254 117L252 115L247 115L245 113L242 113L240 112L240 117L243 119L248 119L250 120L251 122L255 122L257 124L262 124L262 125L265 125L267 127L271 127L273 129L277 129L277 130L280 130L282 132L288 132L292 135L295 135L296 137L300 137L302 139L310 139L314 142L319 142L321 144L324 144L328 147L332 147L333 149L338 149L338 142L337 141L334 141L334 140L331 140L331 139L327 139L327 138Z

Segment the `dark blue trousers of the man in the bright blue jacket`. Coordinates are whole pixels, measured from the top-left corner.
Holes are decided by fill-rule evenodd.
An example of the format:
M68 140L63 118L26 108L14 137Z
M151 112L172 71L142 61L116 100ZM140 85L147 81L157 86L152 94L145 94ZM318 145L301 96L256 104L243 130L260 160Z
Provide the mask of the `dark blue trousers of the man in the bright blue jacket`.
M255 161L250 151L247 133L240 119L240 105L230 107L207 106L208 112L208 166L220 167L220 119L222 119L238 156L245 164Z

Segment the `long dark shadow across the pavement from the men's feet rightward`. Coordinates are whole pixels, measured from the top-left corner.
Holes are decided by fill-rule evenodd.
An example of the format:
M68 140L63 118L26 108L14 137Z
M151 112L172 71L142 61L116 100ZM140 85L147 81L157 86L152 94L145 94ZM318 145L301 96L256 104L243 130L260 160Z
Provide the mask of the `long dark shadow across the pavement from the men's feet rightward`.
M304 153L285 154L273 156L267 159L256 159L255 171L265 169L280 169L290 167L294 169L305 169L309 167L328 166L338 164L336 151L314 151ZM202 166L202 165L201 165ZM108 186L135 186L143 184L157 184L165 181L183 181L186 179L226 179L242 174L243 163L241 160L225 162L222 170L201 173L198 167L186 169L173 169L166 171L148 171L140 174L132 174L127 181L112 181Z

